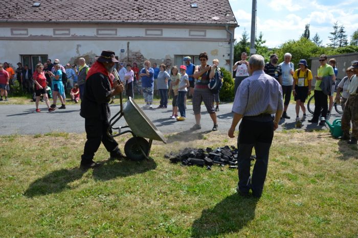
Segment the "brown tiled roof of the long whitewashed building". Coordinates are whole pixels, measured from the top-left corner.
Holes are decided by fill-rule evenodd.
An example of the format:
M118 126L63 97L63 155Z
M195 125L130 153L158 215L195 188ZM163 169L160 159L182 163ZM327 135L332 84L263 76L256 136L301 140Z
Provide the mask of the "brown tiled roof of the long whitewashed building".
M42 2L37 0L36 2ZM100 1L100 5L98 5ZM4 0L0 22L153 22L237 25L229 0ZM192 8L196 3L197 8ZM76 6L76 7L73 7ZM214 20L213 17L219 17Z

